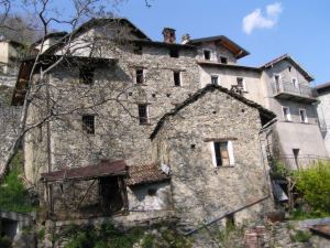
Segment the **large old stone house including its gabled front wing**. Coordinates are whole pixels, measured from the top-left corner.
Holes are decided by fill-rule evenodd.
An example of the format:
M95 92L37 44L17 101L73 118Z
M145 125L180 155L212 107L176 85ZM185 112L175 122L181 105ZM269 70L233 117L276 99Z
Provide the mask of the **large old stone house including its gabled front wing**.
M196 226L272 209L260 133L275 118L262 107L274 97L267 66L237 65L249 52L223 35L163 35L94 19L45 50L35 44L35 67L33 56L22 62L12 104L30 84L24 170L48 218L172 213Z

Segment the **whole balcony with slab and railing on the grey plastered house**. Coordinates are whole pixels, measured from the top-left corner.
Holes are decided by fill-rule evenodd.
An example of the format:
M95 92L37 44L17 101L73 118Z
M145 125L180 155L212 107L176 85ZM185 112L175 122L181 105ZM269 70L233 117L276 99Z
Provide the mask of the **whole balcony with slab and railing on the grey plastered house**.
M292 82L278 82L272 84L274 97L285 100L311 104L318 101L317 93L311 87Z

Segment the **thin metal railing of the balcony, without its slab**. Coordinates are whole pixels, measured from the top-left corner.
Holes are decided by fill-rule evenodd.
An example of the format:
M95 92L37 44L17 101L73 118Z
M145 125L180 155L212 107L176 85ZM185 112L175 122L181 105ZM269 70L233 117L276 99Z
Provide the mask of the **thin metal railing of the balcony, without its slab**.
M298 98L302 97L302 98L315 99L317 97L316 90L314 90L311 87L301 84L295 85L292 82L273 83L272 88L273 88L273 94L276 96L284 94L284 95L296 96Z

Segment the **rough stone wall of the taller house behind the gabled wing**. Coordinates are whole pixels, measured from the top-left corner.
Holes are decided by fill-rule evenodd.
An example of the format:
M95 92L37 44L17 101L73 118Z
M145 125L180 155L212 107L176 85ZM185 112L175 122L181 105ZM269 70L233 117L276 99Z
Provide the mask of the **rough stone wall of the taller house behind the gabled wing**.
M58 66L50 75L50 108L57 115L50 121L52 171L105 158L125 159L129 164L152 162L148 136L155 123L199 88L195 50L183 48L173 58L162 46L143 46L142 55L130 46L108 48L102 56L119 61L98 66L91 86L79 84L77 66ZM142 85L135 84L136 68L144 69ZM182 86L176 87L173 74L178 71ZM139 123L138 104L147 104L148 125ZM82 115L95 115L95 134L82 131ZM34 142L29 153L37 147L45 144ZM46 155L28 168L45 166Z

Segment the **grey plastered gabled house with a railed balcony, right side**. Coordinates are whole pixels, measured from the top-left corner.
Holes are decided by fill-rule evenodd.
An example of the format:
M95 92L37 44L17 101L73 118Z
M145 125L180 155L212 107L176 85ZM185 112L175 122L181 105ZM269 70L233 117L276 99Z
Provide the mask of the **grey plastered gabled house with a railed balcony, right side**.
M287 54L262 69L267 97L265 107L278 119L270 143L275 158L294 169L326 158L318 127L317 94L310 86L312 76Z

